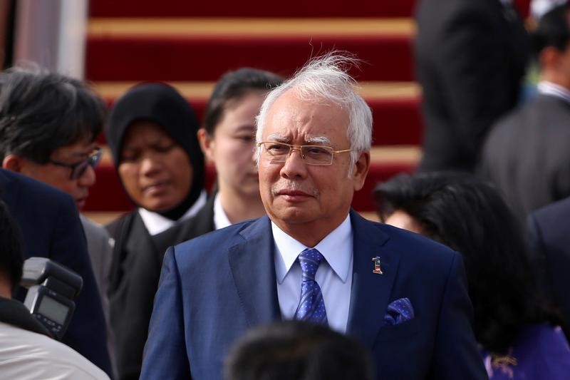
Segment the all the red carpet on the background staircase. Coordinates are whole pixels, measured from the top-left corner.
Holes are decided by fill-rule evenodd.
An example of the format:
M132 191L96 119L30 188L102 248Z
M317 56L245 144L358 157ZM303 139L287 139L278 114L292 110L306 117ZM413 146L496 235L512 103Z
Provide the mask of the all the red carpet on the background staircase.
M523 14L528 14L529 0L515 2L524 9ZM415 0L360 1L354 4L340 0L293 0L279 6L261 0L227 1L224 4L215 1L167 0L157 4L148 0L92 0L90 16L110 20L120 17L408 18L413 16L414 6ZM248 25L251 22L247 21ZM359 19L356 24L361 25L363 21ZM266 33L240 38L227 32L216 36L165 36L147 29L142 31L147 33L110 36L103 31L91 34L86 51L87 78L95 82L216 81L225 71L242 66L264 68L289 76L311 56L336 48L351 51L366 61L361 71L352 72L358 81L414 80L410 33L350 36L346 31L335 29L334 35L314 38L301 34L270 38ZM338 36L339 32L341 36ZM108 101L112 102L113 99ZM190 102L201 117L204 98L190 99ZM417 98L374 98L368 99L368 103L375 120L375 145L420 144L422 123ZM100 142L104 143L104 138L100 138ZM410 160L398 153L375 157L365 187L355 195L353 207L358 211L373 211L371 191L375 185L397 173L410 172L414 166L415 159ZM90 192L86 211L117 212L133 207L109 163L100 165L97 176L98 181ZM208 185L212 184L214 176L214 170L210 167L207 170Z

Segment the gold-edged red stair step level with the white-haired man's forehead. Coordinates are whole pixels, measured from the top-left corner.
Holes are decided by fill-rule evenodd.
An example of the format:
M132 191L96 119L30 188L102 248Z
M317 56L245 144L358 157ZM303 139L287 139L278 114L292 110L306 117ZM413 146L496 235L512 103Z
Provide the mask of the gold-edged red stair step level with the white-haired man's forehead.
M109 106L136 82L95 82L93 88ZM212 93L213 82L171 82L188 99L202 120ZM362 82L360 93L372 108L375 145L419 145L422 119L419 111L420 88L413 82ZM100 135L99 143L105 143Z

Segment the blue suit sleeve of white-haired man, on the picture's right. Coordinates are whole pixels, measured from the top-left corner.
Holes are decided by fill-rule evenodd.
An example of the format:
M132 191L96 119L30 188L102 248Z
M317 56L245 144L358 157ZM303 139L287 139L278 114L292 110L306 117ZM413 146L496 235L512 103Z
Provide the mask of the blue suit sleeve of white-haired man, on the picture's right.
M471 321L465 268L460 255L454 255L440 309L430 379L487 379Z

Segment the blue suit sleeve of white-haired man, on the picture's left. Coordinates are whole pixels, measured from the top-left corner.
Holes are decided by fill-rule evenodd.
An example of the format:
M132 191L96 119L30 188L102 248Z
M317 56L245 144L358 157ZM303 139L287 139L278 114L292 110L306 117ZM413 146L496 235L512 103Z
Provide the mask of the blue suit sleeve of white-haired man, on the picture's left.
M174 247L168 248L162 263L140 379L191 379Z

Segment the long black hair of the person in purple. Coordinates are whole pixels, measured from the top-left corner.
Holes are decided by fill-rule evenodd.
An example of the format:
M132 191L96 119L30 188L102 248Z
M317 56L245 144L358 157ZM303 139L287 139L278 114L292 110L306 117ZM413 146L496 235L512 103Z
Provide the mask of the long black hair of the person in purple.
M558 322L539 302L522 230L492 185L459 173L398 175L375 198L380 220L402 210L462 254L484 349L506 354L524 325Z

